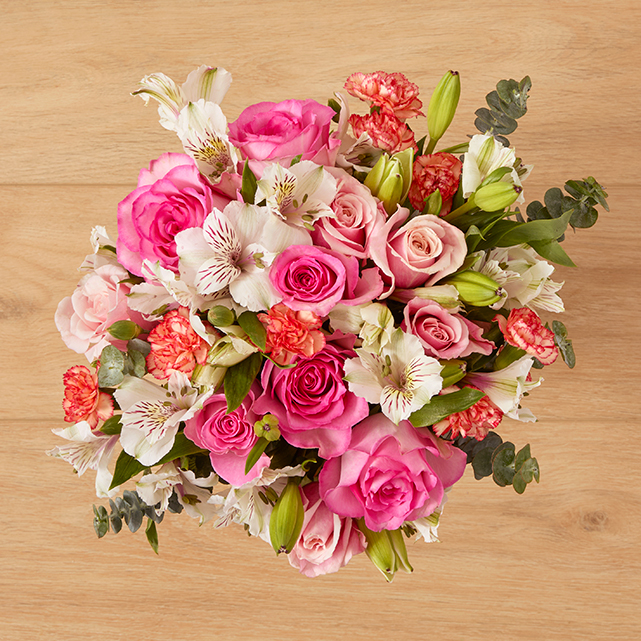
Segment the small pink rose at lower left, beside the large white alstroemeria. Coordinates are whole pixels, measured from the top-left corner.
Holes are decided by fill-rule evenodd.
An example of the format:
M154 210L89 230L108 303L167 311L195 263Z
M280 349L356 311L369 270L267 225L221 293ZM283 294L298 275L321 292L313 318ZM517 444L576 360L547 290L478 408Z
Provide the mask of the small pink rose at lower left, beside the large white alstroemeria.
M262 454L249 474L245 474L247 455L258 440L254 423L260 416L252 406L259 394L260 387L254 383L240 406L229 414L225 395L213 394L203 408L185 422L185 436L198 447L209 450L214 472L234 487L251 481L269 465L269 457Z

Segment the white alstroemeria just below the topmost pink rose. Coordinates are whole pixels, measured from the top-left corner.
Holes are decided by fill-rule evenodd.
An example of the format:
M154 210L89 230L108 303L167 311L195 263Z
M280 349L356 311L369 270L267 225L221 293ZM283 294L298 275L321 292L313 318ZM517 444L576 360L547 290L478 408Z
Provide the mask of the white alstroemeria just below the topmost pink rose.
M256 200L290 225L311 229L321 216L333 216L336 178L321 165L303 160L289 169L274 163L258 181Z

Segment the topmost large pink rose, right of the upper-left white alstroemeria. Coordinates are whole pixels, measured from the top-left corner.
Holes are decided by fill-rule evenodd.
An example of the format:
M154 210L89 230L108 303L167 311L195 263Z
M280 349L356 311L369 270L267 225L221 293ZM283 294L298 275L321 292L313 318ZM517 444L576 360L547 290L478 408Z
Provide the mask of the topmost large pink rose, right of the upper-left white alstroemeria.
M229 124L229 140L249 160L289 166L296 156L334 165L340 140L330 135L334 110L315 100L261 102Z

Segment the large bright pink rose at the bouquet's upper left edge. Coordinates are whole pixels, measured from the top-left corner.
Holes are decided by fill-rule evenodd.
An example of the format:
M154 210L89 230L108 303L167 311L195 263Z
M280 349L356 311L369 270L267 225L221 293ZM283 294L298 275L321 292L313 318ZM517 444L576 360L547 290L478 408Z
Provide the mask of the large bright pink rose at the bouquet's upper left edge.
M226 180L232 191L233 181ZM222 210L235 194L214 190L184 154L163 154L142 169L138 188L118 205L118 260L142 276L142 261L178 272L175 237L179 231L202 227L214 207Z

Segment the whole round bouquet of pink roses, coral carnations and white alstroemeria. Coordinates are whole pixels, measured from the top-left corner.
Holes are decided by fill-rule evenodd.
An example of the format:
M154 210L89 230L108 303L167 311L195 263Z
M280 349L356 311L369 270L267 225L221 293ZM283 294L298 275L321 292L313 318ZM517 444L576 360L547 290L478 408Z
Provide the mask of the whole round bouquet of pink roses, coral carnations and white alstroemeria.
M607 194L568 181L521 209L531 168L505 136L527 77L499 82L480 133L438 150L456 72L425 113L403 74L354 73L362 115L338 92L228 124L230 83L202 66L134 92L184 153L140 172L116 241L93 229L58 306L89 366L64 374L70 425L49 454L95 470L99 537L146 519L157 552L157 524L185 511L242 525L306 576L366 552L391 580L411 571L406 537L437 540L467 464L518 493L539 481L529 445L497 428L535 420L521 405L534 370L574 365L565 327L539 312L563 311L550 263L573 264L563 235ZM425 116L417 141L408 121Z

